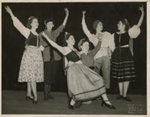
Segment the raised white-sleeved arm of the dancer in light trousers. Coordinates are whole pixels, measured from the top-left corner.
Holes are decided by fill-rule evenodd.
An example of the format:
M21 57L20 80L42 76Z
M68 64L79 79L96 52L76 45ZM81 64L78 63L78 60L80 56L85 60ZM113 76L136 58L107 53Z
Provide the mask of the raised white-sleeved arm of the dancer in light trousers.
M82 24L82 29L83 29L85 35L88 37L89 41L91 41L91 42L93 43L92 34L91 34L91 32L88 30L87 25L86 25L86 22L85 22L85 13L86 13L86 11L83 11L83 12L82 12L82 23L81 23L81 24Z

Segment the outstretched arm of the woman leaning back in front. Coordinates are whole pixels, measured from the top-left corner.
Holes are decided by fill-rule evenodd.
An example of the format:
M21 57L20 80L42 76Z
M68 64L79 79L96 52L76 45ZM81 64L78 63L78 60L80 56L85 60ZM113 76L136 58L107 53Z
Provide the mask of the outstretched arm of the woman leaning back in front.
M51 39L49 39L49 37L42 32L42 36L45 37L45 39L54 47L56 48L58 51L60 51L63 55L65 55L66 51L63 47L59 46L57 43L53 42Z

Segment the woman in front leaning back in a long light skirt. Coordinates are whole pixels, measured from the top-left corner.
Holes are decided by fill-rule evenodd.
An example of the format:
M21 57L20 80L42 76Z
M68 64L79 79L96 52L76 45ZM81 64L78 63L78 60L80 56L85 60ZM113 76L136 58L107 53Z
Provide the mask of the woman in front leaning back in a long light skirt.
M65 35L65 47L53 42L44 32L42 35L68 60L67 85L68 94L71 98L69 108L74 109L74 105L78 101L88 101L102 96L102 106L115 109L108 100L102 77L82 64L80 53L74 48L75 39L73 35L69 33Z

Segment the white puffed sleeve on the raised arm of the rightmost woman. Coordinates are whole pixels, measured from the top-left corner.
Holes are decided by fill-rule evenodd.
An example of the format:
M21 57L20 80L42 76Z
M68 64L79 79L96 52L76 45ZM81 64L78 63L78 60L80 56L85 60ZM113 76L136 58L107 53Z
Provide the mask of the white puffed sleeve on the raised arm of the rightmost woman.
M134 25L128 30L128 33L130 38L136 39L140 35L141 29L137 25Z

